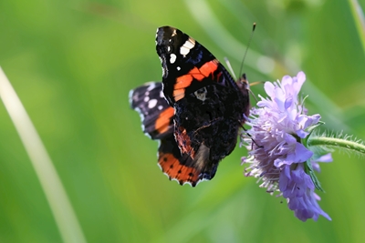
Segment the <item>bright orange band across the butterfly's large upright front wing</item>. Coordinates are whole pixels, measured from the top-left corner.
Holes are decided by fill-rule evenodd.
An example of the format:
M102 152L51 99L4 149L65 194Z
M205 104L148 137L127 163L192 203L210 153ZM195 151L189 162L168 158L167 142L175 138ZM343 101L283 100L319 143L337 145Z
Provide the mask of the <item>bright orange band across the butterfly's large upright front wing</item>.
M194 67L186 75L176 78L176 84L173 86L173 97L175 102L182 99L185 94L185 88L190 86L193 80L202 81L205 77L213 75L218 68L218 60L214 59L210 62L204 63L200 68Z

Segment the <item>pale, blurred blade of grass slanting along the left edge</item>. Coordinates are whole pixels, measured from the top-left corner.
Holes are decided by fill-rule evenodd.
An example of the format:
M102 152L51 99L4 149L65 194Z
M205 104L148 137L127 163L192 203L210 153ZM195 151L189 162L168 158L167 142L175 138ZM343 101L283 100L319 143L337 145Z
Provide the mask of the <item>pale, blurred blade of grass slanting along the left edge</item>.
M57 175L56 168L47 154L46 147L36 132L16 91L0 67L0 97L19 134L26 153L36 170L49 207L55 217L57 228L64 242L84 243L86 238L68 199L65 188Z

